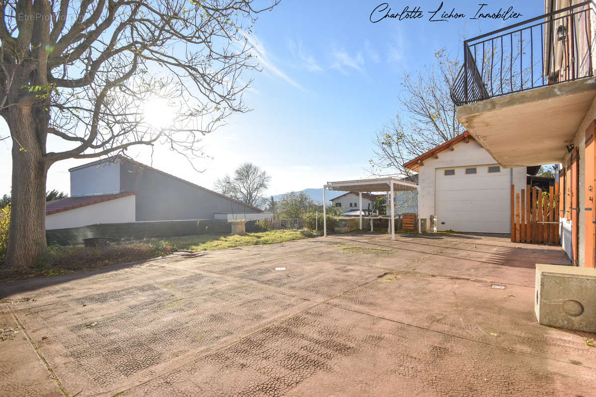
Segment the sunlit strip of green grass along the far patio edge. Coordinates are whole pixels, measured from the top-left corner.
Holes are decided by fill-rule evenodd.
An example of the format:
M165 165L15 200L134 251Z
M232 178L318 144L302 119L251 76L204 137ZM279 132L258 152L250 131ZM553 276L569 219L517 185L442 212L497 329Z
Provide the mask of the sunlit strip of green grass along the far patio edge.
M213 249L283 243L306 237L312 237L308 230L271 230L270 232L244 233L242 235L212 234L171 237L167 239L167 242L175 248L187 251L212 251Z

